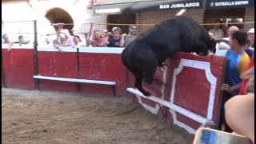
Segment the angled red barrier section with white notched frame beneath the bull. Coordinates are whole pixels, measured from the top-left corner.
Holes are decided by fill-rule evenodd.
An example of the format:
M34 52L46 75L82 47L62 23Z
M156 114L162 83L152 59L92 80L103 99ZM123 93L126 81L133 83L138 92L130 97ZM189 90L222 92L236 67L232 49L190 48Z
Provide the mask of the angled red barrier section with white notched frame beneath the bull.
M155 77L160 78L166 85L153 83L153 86L147 88L153 96L158 98L161 98L160 91L162 90L164 93L162 100L166 100L172 106L181 107L179 110L183 111L183 114L166 106L164 106L165 109L159 109L156 102L149 99L141 101L142 106L154 114L167 114L170 122L185 128L191 134L194 134L202 124L191 119L190 113L198 114L219 125L220 86L224 77L223 71L226 70L225 63L225 57L200 57L187 53L178 53L174 58L168 58L166 61L167 73L162 73L164 74L162 75L162 70L158 69L155 74ZM134 79L132 76L129 78L130 87L133 87L131 82L134 82ZM147 85L144 84L144 86ZM140 100L138 99L138 101ZM202 120L202 118L198 119Z

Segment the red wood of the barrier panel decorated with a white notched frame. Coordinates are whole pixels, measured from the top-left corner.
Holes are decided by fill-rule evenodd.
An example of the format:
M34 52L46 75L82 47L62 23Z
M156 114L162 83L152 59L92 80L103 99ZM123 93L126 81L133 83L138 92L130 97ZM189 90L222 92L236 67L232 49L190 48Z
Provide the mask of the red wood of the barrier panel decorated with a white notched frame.
M178 67L181 58L210 62L211 73L214 75L214 77L217 78L213 113L213 121L217 122L220 86L223 76L222 66L225 57L200 57L193 54L178 53L174 56L173 59L169 59L169 61L171 62L171 66L168 71L167 77L169 77L168 81L170 81L170 84L173 81L174 69ZM171 85L169 89L170 90L166 92L166 100L170 102L170 92L172 90ZM210 82L208 82L208 80L206 79L205 71L184 66L181 73L177 75L174 103L178 106L182 106L186 110L190 110L206 118L209 95ZM191 126L195 130L197 130L198 126L201 125L190 118L186 118L182 114L176 114L178 121L183 122L188 126ZM167 113L167 118L169 119L169 121L172 121L172 117L169 112Z

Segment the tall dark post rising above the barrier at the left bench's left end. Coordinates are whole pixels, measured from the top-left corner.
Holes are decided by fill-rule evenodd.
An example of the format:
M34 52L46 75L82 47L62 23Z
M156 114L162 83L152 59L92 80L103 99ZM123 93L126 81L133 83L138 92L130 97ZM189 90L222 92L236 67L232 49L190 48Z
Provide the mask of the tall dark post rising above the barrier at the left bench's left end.
M38 75L38 31L37 20L34 20L34 75ZM34 78L35 89L38 90L38 78Z

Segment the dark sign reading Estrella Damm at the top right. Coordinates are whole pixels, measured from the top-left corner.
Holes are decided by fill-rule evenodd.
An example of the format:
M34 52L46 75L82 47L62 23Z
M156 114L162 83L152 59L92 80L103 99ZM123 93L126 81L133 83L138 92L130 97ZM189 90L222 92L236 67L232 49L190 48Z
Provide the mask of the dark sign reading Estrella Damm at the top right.
M254 0L228 1L228 0L207 0L206 9L237 8L254 6Z

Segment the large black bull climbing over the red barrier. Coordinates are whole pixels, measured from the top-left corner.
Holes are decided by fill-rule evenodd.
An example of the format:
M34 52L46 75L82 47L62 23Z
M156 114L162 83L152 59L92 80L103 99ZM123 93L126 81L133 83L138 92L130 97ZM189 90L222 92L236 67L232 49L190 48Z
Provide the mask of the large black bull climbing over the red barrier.
M142 80L151 84L157 66L162 66L166 58L177 52L215 53L215 45L216 41L192 18L177 16L160 22L130 42L122 51L122 62L134 74L134 86L148 96Z

